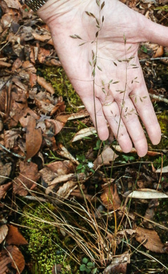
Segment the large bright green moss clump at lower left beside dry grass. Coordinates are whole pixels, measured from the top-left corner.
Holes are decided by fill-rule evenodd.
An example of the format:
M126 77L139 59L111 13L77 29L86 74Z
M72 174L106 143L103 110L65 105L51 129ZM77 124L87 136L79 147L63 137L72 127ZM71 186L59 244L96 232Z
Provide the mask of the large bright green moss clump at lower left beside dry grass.
M59 230L50 222L54 222L54 212L51 204L29 204L24 207L20 224L27 228L22 230L22 234L29 242L27 251L31 255L33 263L32 273L50 274L55 264L62 264L62 274L71 274L69 258L66 260L66 252L62 244ZM62 247L62 248L61 248ZM68 261L68 262L67 262Z

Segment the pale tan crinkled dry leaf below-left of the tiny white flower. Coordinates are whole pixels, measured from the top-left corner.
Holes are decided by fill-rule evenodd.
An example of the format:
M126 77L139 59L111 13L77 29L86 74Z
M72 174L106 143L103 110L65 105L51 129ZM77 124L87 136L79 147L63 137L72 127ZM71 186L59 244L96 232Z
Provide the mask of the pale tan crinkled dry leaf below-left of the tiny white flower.
M57 196L59 200L64 200L71 195L71 192L76 188L77 183L73 181L68 181L62 185L59 190L57 191Z

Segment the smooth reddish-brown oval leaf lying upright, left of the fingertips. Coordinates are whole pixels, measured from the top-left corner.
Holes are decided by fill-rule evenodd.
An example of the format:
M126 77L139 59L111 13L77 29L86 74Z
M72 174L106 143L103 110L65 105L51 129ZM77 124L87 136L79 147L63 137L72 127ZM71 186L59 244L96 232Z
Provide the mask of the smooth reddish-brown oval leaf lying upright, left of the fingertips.
M41 148L42 143L42 133L41 129L36 129L36 120L33 117L29 117L29 122L27 124L26 132L26 148L27 156L26 159L29 159L36 155L38 150Z

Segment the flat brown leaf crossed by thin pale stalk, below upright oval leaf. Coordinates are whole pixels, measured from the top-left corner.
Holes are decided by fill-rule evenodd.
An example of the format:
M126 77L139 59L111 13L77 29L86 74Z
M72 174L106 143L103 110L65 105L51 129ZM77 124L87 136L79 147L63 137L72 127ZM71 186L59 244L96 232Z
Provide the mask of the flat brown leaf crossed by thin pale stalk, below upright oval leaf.
M36 187L36 181L40 178L38 167L33 162L20 163L20 175L13 181L13 192L21 196L26 196L28 190Z

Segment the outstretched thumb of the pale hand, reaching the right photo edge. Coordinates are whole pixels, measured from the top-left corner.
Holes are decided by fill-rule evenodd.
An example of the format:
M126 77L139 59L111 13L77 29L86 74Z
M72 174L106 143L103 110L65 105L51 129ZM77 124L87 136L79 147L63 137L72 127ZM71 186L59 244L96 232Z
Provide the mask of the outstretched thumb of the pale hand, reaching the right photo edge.
M168 46L168 27L159 25L144 18L144 37L146 41L161 46Z

